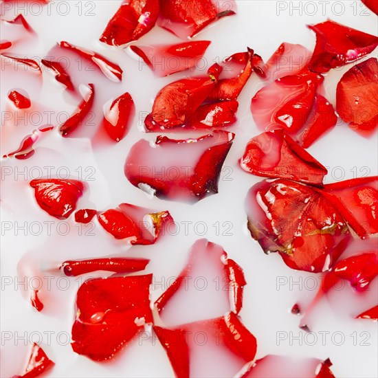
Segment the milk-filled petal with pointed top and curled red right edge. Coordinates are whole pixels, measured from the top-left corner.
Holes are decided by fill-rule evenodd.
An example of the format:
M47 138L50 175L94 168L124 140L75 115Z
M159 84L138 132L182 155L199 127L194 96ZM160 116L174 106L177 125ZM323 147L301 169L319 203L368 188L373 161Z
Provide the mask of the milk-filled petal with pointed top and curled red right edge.
M184 322L193 322L209 316L210 302L211 316L230 310L238 314L243 306L245 285L243 270L227 258L221 245L200 239L192 245L186 267L155 305L164 323L170 325L177 325L178 318L180 322L183 318ZM177 308L184 315L178 317Z

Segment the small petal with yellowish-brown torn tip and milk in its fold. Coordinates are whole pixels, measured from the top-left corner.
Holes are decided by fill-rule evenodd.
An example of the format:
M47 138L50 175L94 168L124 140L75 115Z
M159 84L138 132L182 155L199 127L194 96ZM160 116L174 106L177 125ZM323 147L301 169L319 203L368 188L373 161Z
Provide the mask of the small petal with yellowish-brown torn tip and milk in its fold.
M148 208L131 205L131 203L121 203L118 208L126 216L129 216L140 230L140 238L131 241L131 244L149 245L155 243L160 236L168 232L175 232L175 222L168 211L156 212ZM148 218L147 218L148 217ZM150 219L152 223L146 221Z

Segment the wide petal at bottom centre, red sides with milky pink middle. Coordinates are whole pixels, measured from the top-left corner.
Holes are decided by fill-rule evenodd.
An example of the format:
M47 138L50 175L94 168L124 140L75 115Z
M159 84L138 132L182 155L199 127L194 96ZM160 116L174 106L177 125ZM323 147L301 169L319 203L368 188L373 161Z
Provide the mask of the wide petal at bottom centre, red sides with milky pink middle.
M234 313L155 331L177 377L234 377L256 355L256 338Z

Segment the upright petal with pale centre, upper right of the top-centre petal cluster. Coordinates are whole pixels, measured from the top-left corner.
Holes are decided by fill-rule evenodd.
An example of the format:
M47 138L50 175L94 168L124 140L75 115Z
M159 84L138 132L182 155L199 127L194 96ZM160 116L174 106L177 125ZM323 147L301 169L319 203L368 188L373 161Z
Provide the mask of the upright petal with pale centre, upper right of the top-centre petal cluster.
M259 57L260 58L260 57ZM254 71L254 50L238 52L223 61L223 71L208 100L236 100Z

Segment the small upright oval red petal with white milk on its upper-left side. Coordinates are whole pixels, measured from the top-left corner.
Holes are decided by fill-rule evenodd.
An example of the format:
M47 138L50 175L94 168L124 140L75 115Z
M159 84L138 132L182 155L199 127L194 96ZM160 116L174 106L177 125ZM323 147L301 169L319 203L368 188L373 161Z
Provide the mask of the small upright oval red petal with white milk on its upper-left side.
M102 124L109 137L115 142L120 142L130 129L133 115L135 115L135 104L130 93L126 92L116 98L111 103L110 109L104 112Z

